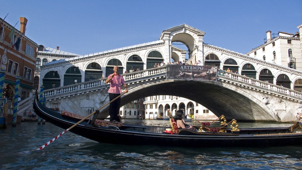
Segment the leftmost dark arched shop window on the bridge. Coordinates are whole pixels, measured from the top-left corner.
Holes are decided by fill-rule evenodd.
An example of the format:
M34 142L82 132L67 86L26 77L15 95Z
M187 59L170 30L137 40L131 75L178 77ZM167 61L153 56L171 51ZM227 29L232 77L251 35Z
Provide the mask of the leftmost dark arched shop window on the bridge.
M45 74L44 78L42 79L42 82L44 90L59 87L61 84L60 75L57 71L49 71Z

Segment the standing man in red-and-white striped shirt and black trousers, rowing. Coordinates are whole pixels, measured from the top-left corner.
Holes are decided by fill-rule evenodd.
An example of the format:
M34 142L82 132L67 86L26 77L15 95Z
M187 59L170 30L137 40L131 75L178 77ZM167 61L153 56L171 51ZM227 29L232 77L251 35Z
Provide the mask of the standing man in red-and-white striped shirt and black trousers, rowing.
M123 76L118 74L118 66L114 66L113 71L114 73L109 75L105 81L105 83L110 82L110 88L108 90L110 101L122 93L122 90L120 88L121 85L124 85L125 92L126 93L128 92L128 88L127 85L125 84L125 80ZM120 98L116 99L109 105L110 122L112 123L120 122L120 119L118 117L119 111L120 111Z

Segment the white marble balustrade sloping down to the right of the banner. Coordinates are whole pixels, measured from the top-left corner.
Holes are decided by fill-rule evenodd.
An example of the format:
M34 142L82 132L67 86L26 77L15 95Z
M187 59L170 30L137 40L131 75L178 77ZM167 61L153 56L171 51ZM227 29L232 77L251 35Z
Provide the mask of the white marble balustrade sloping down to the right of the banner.
M294 91L294 90L291 90L288 88L281 87L279 85L262 82L260 80L256 80L256 79L253 79L253 78L250 78L247 76L243 76L243 75L239 75L239 74L235 74L235 73L231 73L231 72L226 72L223 70L220 70L218 75L222 76L222 77L226 77L228 79L236 80L239 82L245 82L245 83L253 85L253 86L266 88L271 91L278 91L278 92L286 94L286 95L290 95L290 96L297 97L297 98L302 98L302 93L299 91Z

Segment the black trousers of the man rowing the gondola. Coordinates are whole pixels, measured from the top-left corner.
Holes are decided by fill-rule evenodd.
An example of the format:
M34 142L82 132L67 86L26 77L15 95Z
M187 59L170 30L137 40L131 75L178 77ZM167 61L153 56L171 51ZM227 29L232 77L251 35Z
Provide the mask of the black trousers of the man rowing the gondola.
M109 93L109 100L111 101L119 95L120 93ZM112 103L110 103L109 105L110 121L112 120L120 121L120 119L118 118L119 112L120 112L120 97L117 98Z

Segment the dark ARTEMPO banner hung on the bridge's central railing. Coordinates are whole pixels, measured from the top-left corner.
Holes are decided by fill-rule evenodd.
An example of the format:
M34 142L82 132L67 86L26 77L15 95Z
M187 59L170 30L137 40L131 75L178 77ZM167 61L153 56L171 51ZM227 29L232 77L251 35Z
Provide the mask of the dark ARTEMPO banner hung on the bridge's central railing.
M166 79L217 81L217 67L167 65Z

